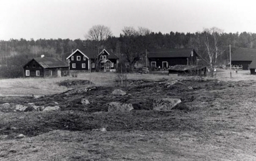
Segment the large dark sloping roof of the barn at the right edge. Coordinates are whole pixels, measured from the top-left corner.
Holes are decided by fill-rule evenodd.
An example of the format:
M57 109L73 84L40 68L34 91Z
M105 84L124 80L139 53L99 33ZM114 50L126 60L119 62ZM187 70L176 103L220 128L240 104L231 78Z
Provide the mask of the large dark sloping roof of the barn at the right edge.
M231 47L231 61L252 61L254 59L256 59L255 49Z

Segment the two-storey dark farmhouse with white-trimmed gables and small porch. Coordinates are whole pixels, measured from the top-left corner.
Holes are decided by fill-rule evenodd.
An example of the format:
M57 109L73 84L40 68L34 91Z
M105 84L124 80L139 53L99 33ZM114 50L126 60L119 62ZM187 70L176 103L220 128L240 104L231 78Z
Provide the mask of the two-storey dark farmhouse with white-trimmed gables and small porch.
M77 49L67 57L70 70L114 70L118 67L118 57L113 52L101 49L98 53L92 49Z

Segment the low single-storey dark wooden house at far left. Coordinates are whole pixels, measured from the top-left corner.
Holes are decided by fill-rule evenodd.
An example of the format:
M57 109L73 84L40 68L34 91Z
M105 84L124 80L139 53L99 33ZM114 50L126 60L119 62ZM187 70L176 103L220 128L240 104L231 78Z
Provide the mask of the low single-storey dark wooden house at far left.
M69 75L69 65L58 58L33 58L23 66L24 77L61 77Z

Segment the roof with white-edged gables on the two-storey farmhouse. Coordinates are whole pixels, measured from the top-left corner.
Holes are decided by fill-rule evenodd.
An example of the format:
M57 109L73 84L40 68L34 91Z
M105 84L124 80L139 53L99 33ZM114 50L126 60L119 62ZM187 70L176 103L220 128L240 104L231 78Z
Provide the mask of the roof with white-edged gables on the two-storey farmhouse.
M69 55L66 59L69 59L72 55L74 55L76 52L81 52L83 56L85 56L86 58L90 58L90 59L94 59L95 55L96 55L96 50L92 50L92 49L86 49L86 48L82 48L82 49L76 49L74 52L71 53L71 55ZM99 55L106 51L108 54L108 59L119 59L116 55L114 55L113 52L111 52L110 50L106 50L106 49L100 49L100 53Z

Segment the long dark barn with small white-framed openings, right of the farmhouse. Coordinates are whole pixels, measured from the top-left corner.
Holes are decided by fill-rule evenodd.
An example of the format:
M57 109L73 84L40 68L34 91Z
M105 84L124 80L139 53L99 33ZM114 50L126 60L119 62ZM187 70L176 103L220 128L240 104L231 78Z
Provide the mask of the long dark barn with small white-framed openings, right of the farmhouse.
M151 69L169 68L174 65L196 65L198 54L194 49L155 49L148 52Z

